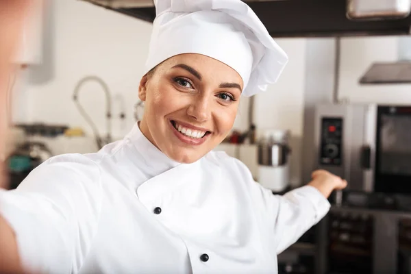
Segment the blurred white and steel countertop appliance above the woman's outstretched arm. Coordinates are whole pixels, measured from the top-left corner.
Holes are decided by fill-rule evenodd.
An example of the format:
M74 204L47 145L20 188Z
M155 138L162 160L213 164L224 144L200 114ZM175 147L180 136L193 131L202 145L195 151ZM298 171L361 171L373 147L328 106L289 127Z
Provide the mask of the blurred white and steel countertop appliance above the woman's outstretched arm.
M288 130L269 130L258 143L258 181L273 192L290 186Z

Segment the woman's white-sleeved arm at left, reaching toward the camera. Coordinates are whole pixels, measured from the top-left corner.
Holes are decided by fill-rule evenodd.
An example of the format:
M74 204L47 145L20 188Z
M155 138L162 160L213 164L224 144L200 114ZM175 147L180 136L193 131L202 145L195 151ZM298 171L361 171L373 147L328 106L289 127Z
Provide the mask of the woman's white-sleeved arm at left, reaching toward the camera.
M0 214L12 228L1 232L5 252L17 246L25 273L77 273L97 234L102 191L100 168L84 155L47 160L16 190L0 190Z

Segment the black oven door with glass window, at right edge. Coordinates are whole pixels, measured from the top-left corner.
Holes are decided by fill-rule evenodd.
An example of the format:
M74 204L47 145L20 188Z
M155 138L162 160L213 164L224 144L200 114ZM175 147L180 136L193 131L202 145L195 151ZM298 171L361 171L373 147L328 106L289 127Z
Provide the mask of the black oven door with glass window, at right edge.
M375 192L411 193L411 106L377 109Z

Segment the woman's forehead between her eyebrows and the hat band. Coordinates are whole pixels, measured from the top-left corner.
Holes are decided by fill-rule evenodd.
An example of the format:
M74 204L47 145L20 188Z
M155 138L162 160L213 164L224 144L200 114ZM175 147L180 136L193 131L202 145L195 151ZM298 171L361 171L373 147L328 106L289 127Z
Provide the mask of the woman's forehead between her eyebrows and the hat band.
M236 82L242 86L242 78L223 62L197 53L184 53L175 55L162 63L162 69L170 70L178 64L186 64L201 73L203 77L220 78L223 82Z

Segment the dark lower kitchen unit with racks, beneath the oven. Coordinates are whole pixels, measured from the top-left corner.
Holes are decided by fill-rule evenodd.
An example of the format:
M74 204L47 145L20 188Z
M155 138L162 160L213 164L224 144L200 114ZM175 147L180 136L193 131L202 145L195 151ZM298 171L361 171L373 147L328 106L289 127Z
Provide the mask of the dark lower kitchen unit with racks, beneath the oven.
M385 195L362 193L367 199ZM395 196L393 196L395 197ZM397 199L405 197L398 196ZM409 199L408 199L409 200ZM405 203L406 200L404 199ZM409 202L408 202L409 203ZM410 211L332 206L322 225L327 227L317 273L411 273Z

